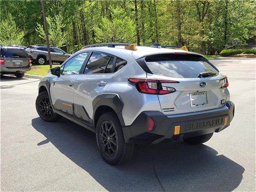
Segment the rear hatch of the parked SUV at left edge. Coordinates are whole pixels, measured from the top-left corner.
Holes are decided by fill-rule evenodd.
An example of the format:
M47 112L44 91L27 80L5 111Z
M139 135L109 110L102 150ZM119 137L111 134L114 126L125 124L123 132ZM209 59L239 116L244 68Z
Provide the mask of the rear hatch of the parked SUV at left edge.
M6 68L29 67L29 58L24 48L4 48L2 51Z

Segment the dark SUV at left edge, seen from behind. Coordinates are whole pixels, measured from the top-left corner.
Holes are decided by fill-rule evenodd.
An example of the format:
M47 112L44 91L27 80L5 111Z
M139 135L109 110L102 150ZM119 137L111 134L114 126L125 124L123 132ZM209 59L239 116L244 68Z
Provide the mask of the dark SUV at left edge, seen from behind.
M20 46L0 46L0 73L21 78L31 68L31 60Z

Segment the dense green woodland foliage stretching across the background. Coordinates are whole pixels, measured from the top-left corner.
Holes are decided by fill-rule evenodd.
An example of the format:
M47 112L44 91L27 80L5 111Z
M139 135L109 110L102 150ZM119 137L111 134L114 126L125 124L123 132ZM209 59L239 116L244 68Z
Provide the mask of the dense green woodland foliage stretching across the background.
M47 0L45 6L50 43L68 52L100 42L158 42L214 54L256 35L254 0ZM0 14L3 21L12 15L24 45L45 44L40 1L2 1Z

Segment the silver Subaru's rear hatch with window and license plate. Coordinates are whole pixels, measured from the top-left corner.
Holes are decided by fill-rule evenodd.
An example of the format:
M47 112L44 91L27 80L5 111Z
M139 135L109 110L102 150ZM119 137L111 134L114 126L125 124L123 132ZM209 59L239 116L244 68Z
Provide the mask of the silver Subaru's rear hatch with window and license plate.
M159 54L147 56L145 61L152 72L147 74L147 78L178 82L162 83L163 88L172 87L176 90L170 94L158 95L164 114L198 112L224 105L221 102L226 99L221 88L222 75L202 56Z

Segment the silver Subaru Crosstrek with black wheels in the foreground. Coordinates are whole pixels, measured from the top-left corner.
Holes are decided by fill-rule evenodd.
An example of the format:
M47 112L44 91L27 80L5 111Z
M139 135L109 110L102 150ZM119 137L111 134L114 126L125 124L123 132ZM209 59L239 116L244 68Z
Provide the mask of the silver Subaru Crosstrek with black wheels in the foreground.
M202 55L118 45L90 45L52 68L39 83L39 116L95 132L109 164L130 159L134 144L201 144L230 125L228 79Z

